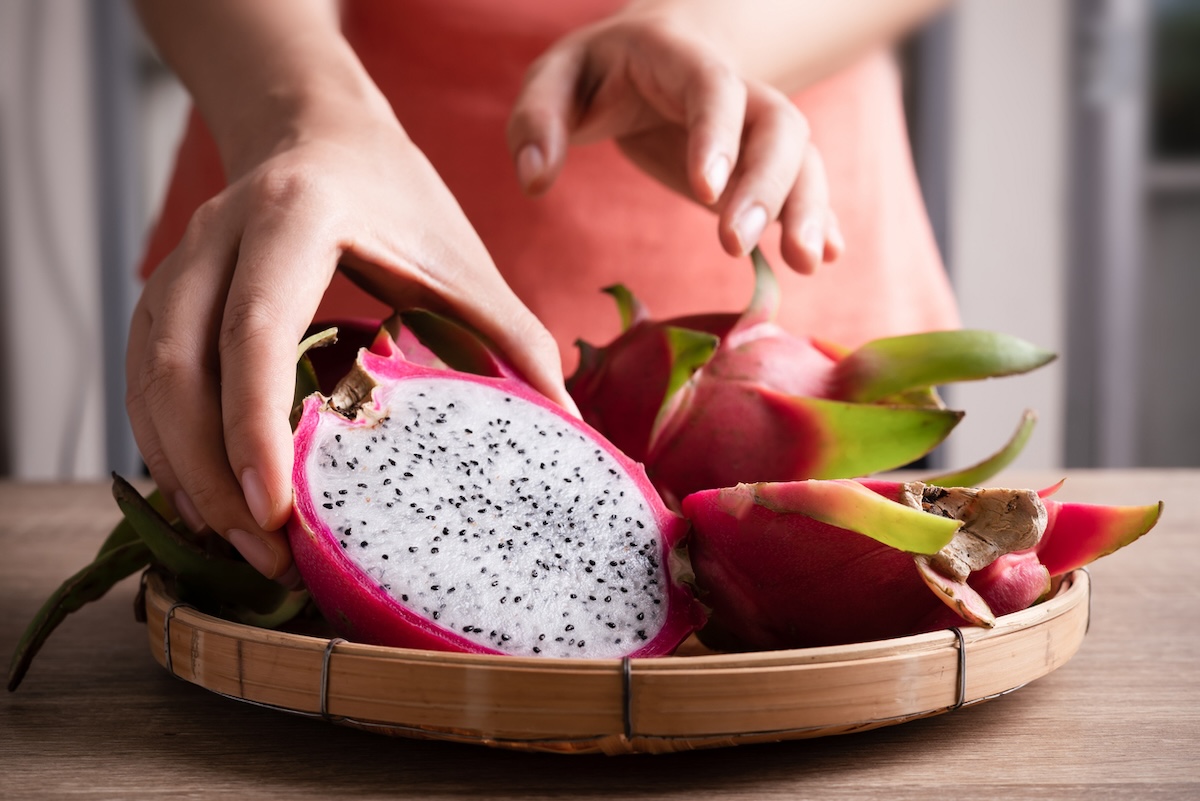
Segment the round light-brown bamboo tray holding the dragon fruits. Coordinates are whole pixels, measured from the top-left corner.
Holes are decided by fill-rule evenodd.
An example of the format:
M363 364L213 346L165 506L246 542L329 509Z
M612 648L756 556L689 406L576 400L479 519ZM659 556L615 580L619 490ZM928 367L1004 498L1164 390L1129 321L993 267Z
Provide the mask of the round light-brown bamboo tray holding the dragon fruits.
M860 731L1002 695L1064 664L1091 584L997 621L754 654L538 660L380 648L234 624L146 580L150 649L215 693L390 735L559 753L661 753Z

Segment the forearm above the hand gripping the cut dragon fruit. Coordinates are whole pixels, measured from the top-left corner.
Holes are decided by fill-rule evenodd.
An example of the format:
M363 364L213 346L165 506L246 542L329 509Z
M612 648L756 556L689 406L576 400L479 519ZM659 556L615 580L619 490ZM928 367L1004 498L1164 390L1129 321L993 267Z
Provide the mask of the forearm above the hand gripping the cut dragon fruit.
M191 92L228 177L281 143L350 114L391 118L330 0L136 0L146 34Z

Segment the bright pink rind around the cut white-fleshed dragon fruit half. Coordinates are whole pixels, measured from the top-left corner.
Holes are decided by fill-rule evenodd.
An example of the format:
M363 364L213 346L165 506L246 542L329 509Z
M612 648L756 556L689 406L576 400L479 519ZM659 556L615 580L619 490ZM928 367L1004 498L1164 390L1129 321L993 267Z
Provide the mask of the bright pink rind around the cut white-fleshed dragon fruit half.
M450 373L445 369L414 365L404 359L404 355L390 343L389 338L376 341L371 351L360 353L359 360L379 380L454 375L456 380L496 386L512 396L551 410L563 421L584 432L598 447L604 447L614 460L637 478L646 494L647 506L653 511L661 531L662 564L668 564L666 555L686 535L688 524L661 502L658 502L658 495L640 465L596 435L588 426L538 395L520 379ZM304 470L318 415L322 414L323 406L324 399L318 396L311 396L304 402L304 414L294 435L294 507L288 522L288 540L296 567L322 614L338 633L356 642L434 651L499 654L499 651L467 640L402 606L353 565L337 544L335 535L320 522L314 499L308 492ZM378 410L378 406L376 409ZM367 423L365 421L347 421L346 424ZM630 656L670 654L688 634L703 625L703 608L683 584L678 582L670 584L667 603L670 614L662 630Z

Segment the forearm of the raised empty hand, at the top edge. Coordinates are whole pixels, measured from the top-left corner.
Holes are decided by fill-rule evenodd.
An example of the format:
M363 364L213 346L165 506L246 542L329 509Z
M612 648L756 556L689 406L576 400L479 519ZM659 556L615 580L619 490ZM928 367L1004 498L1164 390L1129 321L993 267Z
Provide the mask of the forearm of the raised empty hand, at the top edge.
M948 5L948 0L632 0L625 12L689 26L739 73L798 91Z

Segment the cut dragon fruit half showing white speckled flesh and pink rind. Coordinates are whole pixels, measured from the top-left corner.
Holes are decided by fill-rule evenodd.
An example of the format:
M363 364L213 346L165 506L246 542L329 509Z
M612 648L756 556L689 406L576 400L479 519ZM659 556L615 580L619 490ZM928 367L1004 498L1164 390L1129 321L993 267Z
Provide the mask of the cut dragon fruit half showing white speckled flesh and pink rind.
M640 465L473 348L484 375L415 363L383 333L305 399L288 530L318 607L383 645L671 652L703 621L671 574L686 523Z

